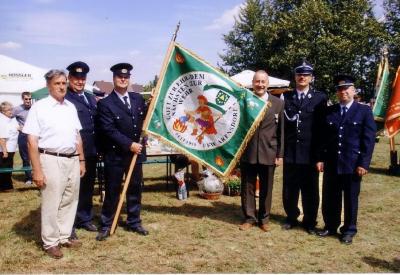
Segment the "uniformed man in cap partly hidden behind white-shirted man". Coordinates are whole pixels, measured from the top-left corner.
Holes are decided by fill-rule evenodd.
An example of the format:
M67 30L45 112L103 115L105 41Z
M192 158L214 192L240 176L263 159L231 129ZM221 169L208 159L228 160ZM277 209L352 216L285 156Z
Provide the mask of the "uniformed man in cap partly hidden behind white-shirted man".
M84 228L87 231L97 231L93 224L93 189L96 179L96 145L95 145L95 118L96 118L96 99L92 94L85 92L86 76L89 66L81 61L74 62L67 67L68 88L65 98L75 105L78 111L79 121L82 125L80 131L86 174L81 178L79 188L79 202L76 212L74 228L71 237L77 238L75 228ZM62 123L62 122L60 122Z

